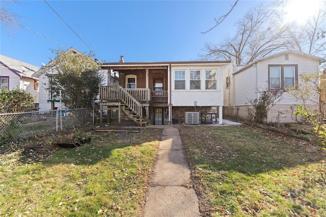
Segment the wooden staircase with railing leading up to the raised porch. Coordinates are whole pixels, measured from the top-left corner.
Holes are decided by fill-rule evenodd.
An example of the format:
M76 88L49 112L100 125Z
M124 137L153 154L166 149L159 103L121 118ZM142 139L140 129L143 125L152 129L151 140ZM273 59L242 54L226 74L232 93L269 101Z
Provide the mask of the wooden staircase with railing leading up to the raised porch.
M108 86L107 89L102 87L100 99L103 99L103 96L107 102L120 102L121 110L138 126L147 125L146 118L143 117L143 105L121 86Z

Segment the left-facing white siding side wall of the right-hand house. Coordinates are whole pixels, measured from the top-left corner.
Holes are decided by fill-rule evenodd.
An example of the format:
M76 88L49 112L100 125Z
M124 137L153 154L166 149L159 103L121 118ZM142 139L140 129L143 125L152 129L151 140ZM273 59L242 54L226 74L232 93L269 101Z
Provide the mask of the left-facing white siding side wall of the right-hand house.
M256 67L251 66L233 75L235 106L250 105L257 98Z

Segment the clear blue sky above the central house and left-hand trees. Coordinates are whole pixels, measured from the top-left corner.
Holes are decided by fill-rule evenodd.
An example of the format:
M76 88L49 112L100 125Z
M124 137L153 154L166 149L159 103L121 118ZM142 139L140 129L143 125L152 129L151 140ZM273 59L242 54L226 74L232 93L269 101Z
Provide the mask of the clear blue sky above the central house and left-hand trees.
M232 34L236 20L262 1L240 0L224 22L206 34L201 32L235 0L47 1L79 37L45 1L20 2L10 7L21 16L18 22L43 36L23 27L8 32L2 26L0 53L40 67L55 57L50 49L67 47L92 50L105 62L118 62L121 55L125 62L196 60L206 42L218 43Z

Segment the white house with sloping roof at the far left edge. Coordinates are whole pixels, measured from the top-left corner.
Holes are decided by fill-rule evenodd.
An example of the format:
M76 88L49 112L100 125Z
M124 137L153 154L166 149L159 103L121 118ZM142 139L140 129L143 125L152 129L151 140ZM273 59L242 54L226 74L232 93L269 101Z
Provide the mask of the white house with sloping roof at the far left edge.
M35 109L39 105L39 78L33 74L39 69L29 63L24 63L4 55L0 55L0 89L12 90L19 88L35 97Z

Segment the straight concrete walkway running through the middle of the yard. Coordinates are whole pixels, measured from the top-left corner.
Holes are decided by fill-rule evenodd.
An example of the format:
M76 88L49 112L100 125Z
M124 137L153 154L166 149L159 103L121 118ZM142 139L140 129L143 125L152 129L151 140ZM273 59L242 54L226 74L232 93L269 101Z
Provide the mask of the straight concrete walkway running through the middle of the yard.
M148 188L145 217L201 216L179 129L173 126L163 129L154 173Z

